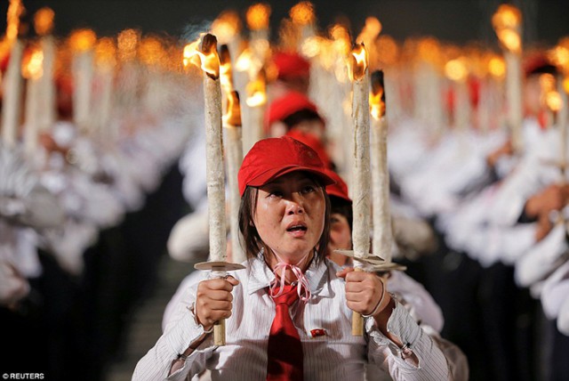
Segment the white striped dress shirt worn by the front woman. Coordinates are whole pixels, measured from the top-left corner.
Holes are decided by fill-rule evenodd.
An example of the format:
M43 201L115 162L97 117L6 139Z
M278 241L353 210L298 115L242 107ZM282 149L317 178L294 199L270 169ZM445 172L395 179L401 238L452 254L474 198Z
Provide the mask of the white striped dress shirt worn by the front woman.
M352 336L352 312L346 304L345 282L336 276L338 269L327 259L312 263L305 273L312 297L306 304L298 302L291 307L301 336L306 380L362 380L368 361L388 370L394 379L449 379L444 354L399 303L389 318L388 329L413 350L419 367L402 358L400 349L381 334L373 318L366 318L364 336ZM275 317L267 288L275 275L260 257L246 263L246 269L233 276L240 284L233 289L232 316L226 320L226 345L214 346L212 335L207 336L183 366L168 377L172 361L204 333L191 312L195 285L182 296L164 335L137 364L133 380L186 380L203 369L211 370L212 380L266 378L268 331ZM324 329L325 334L312 337L313 329Z

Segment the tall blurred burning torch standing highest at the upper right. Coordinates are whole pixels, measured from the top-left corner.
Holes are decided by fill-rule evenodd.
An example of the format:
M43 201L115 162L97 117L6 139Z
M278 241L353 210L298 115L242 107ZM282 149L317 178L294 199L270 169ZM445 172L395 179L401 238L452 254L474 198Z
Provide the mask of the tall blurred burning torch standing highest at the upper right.
M512 146L519 153L522 137L522 13L513 5L501 4L493 14L492 24L504 50L506 61L506 101Z

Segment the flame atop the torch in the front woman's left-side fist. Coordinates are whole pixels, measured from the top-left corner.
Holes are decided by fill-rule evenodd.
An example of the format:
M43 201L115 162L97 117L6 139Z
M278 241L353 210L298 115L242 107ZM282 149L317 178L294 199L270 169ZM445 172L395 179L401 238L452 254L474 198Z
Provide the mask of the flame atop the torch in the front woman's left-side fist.
M184 46L184 66L190 63L200 67L212 79L220 77L220 56L217 53L217 39L205 34L199 40ZM199 63L198 63L199 62Z

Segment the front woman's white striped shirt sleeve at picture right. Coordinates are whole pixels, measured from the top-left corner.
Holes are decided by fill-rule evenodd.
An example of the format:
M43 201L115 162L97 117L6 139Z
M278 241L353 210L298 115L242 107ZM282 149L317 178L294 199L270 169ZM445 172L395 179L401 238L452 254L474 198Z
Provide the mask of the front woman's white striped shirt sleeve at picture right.
M388 331L399 337L405 349L384 336L371 317L366 318L365 330L369 336L369 361L389 371L394 380L450 379L445 355L397 300L388 320ZM411 353L418 359L417 366L409 359Z

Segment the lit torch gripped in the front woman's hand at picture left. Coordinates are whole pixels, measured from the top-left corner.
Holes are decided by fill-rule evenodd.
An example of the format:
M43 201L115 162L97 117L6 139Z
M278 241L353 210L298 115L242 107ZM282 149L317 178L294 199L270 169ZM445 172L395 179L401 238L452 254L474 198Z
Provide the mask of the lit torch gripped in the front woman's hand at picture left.
M223 278L227 271L244 268L227 262L225 221L225 174L223 170L223 142L221 134L221 86L220 58L217 39L211 34L202 36L201 44L184 48L184 61L197 63L204 72L204 111L207 200L210 234L210 259L212 262L196 263L197 270L210 270L212 277ZM213 327L215 345L225 345L225 320Z

